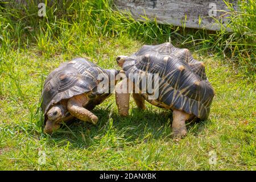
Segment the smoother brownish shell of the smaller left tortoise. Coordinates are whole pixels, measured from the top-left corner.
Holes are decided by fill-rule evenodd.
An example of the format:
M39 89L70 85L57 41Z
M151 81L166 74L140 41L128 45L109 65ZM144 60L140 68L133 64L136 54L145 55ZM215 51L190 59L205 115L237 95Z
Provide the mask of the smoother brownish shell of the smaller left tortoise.
M41 96L44 115L51 109L51 106L79 94L88 94L89 102L85 106L86 109L93 109L94 106L100 104L110 96L110 93L98 92L97 86L100 80L97 78L101 73L105 73L106 77L109 77L112 71L102 69L83 58L60 64L44 82ZM115 71L116 74L117 71Z

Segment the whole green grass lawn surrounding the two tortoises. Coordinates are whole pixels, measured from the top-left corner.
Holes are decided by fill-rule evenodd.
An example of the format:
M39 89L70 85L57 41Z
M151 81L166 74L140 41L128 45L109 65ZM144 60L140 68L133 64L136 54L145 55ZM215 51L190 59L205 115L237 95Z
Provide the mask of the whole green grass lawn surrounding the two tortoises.
M64 1L47 9L47 18L37 10L0 11L0 169L256 170L255 38L135 22L107 1ZM255 24L246 27L255 34ZM51 137L42 132L43 81L60 63L81 56L118 68L116 56L169 37L205 62L216 92L209 119L189 123L186 138L172 140L171 112L150 104L142 112L131 100L130 116L119 117L114 96L93 110L96 126L76 121ZM230 40L238 51L226 46L231 54L224 60L225 45L214 45L216 40ZM39 164L39 151L46 152L46 164ZM216 165L209 164L210 151L217 154Z

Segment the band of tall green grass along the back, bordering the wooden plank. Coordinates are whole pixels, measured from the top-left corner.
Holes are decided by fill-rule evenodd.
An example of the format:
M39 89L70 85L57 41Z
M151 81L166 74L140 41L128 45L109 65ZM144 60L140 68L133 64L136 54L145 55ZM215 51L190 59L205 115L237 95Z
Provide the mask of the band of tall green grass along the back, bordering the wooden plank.
M225 31L223 26L221 31L208 32L158 24L147 18L139 22L129 14L117 11L113 1L108 0L45 1L51 6L47 6L46 17L39 17L35 2L28 1L26 6L5 4L0 7L2 51L36 47L44 54L63 52L69 51L72 44L82 45L92 37L131 36L147 44L171 39L176 46L220 55L224 57L224 63L236 64L249 73L255 72L254 0L239 1L238 10L226 3L230 10L228 26L232 32Z

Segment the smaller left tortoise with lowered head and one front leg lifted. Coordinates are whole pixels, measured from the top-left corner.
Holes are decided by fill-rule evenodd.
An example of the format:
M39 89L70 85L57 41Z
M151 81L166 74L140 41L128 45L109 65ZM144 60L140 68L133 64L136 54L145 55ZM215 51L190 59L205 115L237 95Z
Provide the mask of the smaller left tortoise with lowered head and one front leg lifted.
M95 125L98 118L90 110L110 96L110 89L115 85L113 79L118 72L102 69L83 58L60 64L48 75L43 86L44 132L51 134L59 129L61 122L68 122L74 117ZM98 89L103 80L109 83L106 92Z

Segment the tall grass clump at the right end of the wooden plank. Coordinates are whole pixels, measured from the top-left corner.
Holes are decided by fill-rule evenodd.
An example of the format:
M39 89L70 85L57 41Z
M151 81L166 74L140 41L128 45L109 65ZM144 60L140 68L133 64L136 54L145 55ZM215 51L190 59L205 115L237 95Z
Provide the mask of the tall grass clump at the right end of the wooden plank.
M256 71L256 2L253 0L238 1L238 9L227 1L229 12L228 27L232 32L217 31L214 35L214 49L227 55L246 71Z

